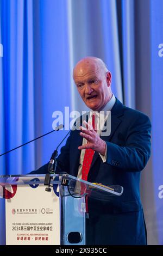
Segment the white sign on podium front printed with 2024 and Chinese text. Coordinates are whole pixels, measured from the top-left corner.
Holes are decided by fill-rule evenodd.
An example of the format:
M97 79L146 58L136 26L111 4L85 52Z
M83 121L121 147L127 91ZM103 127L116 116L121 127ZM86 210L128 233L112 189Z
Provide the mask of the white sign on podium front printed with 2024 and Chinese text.
M51 192L45 191L42 184L12 185L5 189L14 195L5 200L6 245L60 245L56 187Z

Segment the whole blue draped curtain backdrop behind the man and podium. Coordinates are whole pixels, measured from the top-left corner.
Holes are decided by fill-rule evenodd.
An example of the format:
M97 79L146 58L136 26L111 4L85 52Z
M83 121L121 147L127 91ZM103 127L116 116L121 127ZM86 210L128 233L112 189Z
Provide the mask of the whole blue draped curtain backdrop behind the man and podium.
M0 0L0 154L51 131L54 111L85 110L73 66L102 58L118 99L152 120L152 157L141 181L148 244L163 244L162 9L162 0ZM40 167L65 134L0 157L0 174Z

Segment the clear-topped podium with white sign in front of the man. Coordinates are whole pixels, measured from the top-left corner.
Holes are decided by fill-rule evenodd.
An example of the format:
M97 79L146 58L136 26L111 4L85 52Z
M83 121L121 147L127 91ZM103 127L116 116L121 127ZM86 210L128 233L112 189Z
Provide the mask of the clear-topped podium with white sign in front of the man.
M0 176L0 244L85 245L87 200L121 196L122 186L104 186L68 174Z

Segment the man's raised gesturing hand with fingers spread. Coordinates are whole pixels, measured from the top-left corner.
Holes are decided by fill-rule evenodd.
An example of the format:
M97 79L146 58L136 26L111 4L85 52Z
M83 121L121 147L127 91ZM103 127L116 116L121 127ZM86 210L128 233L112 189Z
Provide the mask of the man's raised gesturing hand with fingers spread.
M80 126L80 136L87 140L87 144L79 146L78 149L93 149L96 152L105 155L106 143L99 137L97 132L93 130L91 124L86 121L83 122L84 126Z

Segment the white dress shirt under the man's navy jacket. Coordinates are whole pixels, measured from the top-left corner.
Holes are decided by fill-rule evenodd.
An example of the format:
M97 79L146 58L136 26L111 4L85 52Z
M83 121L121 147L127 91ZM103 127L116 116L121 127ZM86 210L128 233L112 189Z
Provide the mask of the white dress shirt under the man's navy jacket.
M104 127L104 123L105 123L106 119L108 118L109 111L111 111L115 102L116 102L116 98L113 94L110 101L108 101L108 103L106 103L104 108L101 110L103 113L97 112L97 111L92 111L92 109L90 110L90 115L89 115L88 122L90 124L92 124L92 114L95 114L95 116L96 116L95 123L96 123L96 127L97 127L97 133L98 133L99 136L101 135L101 132L102 132L103 127ZM87 140L85 138L83 138L83 144L82 145L84 145L86 143L87 143ZM82 166L83 166L84 154L85 154L85 149L82 149L81 154L80 154L79 169L78 169L78 178L79 179L82 179ZM99 153L103 162L106 162L106 154L107 154L107 148L106 148L104 156Z

